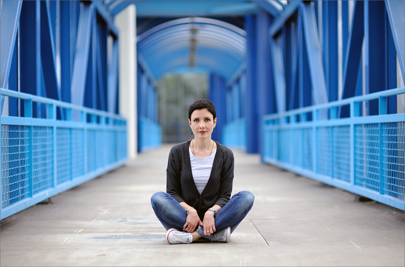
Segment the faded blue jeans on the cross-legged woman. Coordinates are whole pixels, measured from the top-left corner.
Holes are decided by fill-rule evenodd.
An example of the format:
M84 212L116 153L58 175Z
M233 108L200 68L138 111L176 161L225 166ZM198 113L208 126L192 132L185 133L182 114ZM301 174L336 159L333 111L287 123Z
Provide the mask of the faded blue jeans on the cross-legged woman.
M254 195L249 191L241 191L231 197L222 209L214 216L215 229L222 231L230 226L231 233L241 223L253 206ZM158 192L151 197L153 211L163 227L168 230L175 228L183 231L187 218L187 211L170 194ZM203 220L203 218L200 218ZM198 234L207 239L213 235L204 235L204 228L198 230Z

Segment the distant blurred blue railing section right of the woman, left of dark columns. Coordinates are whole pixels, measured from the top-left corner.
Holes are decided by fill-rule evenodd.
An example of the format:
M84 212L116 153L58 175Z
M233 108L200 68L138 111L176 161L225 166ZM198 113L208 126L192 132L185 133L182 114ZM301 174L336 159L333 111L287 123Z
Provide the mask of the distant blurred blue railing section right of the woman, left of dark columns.
M246 149L246 119L240 118L227 123L222 128L224 146Z

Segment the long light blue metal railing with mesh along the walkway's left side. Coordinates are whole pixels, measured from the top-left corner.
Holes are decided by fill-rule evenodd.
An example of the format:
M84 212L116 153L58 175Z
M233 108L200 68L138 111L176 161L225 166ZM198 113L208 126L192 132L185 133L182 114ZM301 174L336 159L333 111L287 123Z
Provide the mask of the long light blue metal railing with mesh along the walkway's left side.
M1 219L126 163L123 117L7 89L1 95L24 107L23 117L1 116ZM32 117L33 103L45 119Z

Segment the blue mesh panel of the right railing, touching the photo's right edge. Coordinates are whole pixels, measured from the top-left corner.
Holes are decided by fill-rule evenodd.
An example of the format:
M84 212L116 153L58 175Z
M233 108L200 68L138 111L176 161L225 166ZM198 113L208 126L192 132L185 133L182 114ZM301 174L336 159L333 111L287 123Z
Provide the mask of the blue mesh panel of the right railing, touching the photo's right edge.
M404 122L383 123L384 194L404 201Z

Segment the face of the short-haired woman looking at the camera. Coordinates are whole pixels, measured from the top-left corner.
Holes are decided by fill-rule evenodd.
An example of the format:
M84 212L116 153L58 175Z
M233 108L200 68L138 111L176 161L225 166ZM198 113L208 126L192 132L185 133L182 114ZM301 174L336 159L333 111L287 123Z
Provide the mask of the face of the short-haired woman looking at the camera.
M196 138L206 139L211 138L217 118L214 119L207 108L197 109L191 114L191 121L188 120L188 123Z

